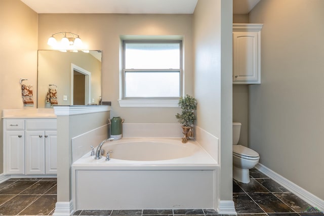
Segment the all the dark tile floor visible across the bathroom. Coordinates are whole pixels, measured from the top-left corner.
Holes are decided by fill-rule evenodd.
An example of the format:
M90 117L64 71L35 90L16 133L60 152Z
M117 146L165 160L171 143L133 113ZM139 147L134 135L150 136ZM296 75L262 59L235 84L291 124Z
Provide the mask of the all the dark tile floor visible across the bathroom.
M324 216L257 169L251 182L233 180L233 201L239 216ZM56 179L10 179L0 184L0 215L51 215L56 203ZM78 210L73 215L181 216L219 215L214 209Z

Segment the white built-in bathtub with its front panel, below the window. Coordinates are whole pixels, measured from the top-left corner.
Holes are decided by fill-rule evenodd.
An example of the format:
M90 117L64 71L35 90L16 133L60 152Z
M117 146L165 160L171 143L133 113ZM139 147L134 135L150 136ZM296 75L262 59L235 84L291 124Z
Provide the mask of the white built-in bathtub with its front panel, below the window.
M123 138L72 164L72 202L80 209L217 208L219 165L201 146L177 139Z

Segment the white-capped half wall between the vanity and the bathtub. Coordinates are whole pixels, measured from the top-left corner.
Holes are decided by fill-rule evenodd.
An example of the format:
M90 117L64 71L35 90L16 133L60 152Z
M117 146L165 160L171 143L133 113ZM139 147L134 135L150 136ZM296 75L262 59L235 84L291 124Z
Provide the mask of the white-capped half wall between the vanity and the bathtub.
M83 114L73 114L74 109ZM57 161L57 202L69 203L72 198L71 189L71 165L72 165L72 150L87 149L90 151L90 145L98 146L100 142L108 138L108 130L101 132L101 128L106 126L109 119L109 111L101 111L94 113L87 113L88 110L101 109L98 107L54 107L55 114L57 115L57 143L58 143L58 161ZM63 112L61 112L63 110ZM85 111L83 111L85 110ZM72 114L71 114L72 113ZM82 127L80 127L82 125ZM95 137L92 131L100 131L101 135ZM89 140L87 136L91 136L90 142L83 143ZM79 142L74 142L72 149L72 141L76 137L84 136L79 139ZM91 138L90 137L90 138ZM98 140L99 139L99 140ZM80 155L83 155L81 153ZM73 158L75 160L76 158ZM58 206L57 206L58 207ZM59 215L56 209L56 215Z

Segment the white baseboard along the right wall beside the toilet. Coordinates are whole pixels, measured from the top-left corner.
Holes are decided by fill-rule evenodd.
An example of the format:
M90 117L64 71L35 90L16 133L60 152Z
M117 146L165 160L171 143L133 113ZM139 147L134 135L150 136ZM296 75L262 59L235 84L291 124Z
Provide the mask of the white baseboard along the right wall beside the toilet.
M261 163L258 163L255 166L256 169L261 171L263 174L267 175L270 177L273 181L279 183L280 185L284 186L287 188L289 191L294 193L296 196L300 197L303 199L305 202L308 204L312 205L313 207L316 207L317 209L323 211L324 210L324 200L318 198L312 193L309 193L305 189L299 187L295 183L289 181L288 179L280 176L276 172L272 171L268 167L262 165Z

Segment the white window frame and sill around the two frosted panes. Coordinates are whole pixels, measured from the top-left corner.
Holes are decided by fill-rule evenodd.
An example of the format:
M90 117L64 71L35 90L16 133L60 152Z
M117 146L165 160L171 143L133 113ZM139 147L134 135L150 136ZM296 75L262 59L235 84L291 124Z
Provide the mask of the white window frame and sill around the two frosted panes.
M120 88L121 99L118 100L119 106L121 107L178 107L178 100L183 94L183 73L182 73L182 65L183 65L183 50L182 50L182 40L123 40L123 69L121 75L121 85ZM180 45L180 68L177 69L130 69L125 68L125 53L127 43L177 43ZM125 86L125 76L126 72L179 72L179 97L125 97L126 86Z

